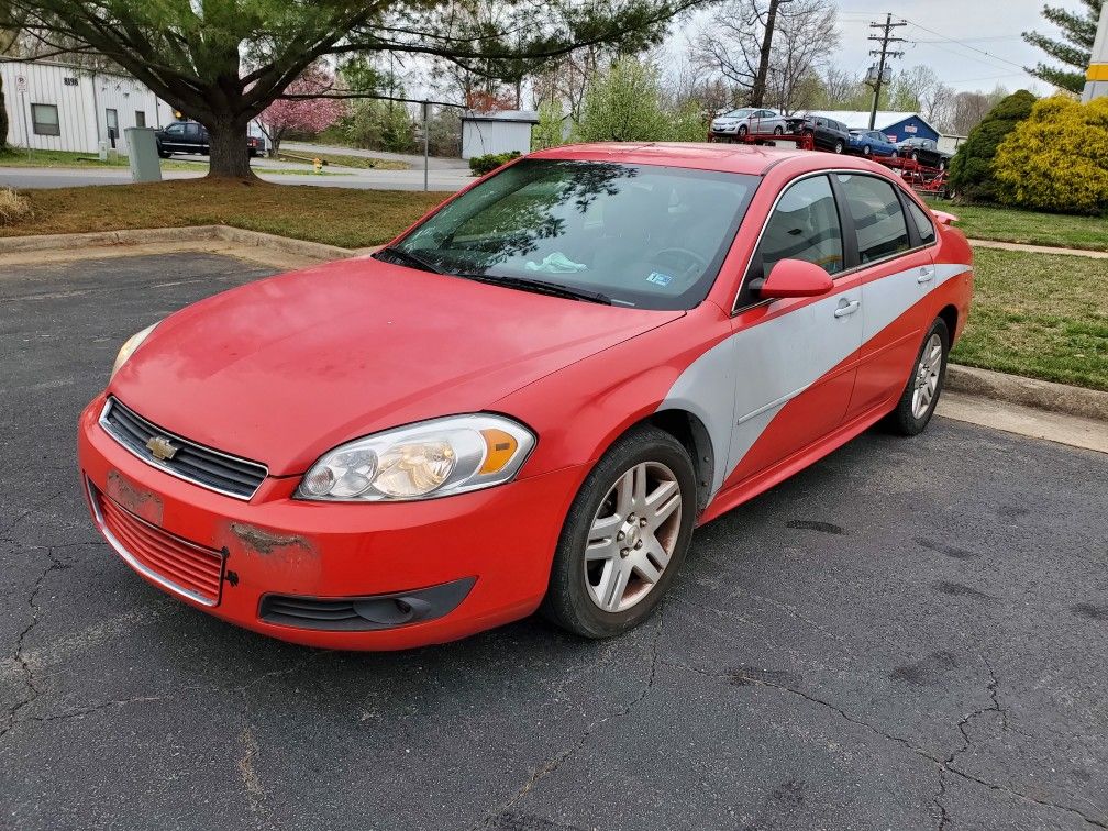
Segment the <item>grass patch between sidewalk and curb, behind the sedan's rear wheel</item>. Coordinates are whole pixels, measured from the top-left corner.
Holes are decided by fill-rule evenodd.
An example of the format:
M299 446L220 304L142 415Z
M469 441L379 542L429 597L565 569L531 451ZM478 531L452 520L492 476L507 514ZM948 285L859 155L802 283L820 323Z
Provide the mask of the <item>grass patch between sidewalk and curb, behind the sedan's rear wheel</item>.
M1108 266L1092 257L974 252L976 296L951 359L1108 390Z

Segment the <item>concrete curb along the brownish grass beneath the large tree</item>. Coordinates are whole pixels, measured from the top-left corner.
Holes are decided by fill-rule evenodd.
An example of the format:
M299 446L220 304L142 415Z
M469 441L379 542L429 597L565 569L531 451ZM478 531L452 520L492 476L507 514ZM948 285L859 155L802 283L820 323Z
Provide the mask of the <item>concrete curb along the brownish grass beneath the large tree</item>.
M43 234L27 237L0 237L0 256L28 252L57 252L112 245L146 245L151 243L188 243L218 239L236 245L255 246L314 257L327 261L356 257L362 250L339 248L337 245L309 243L306 239L280 237L259 230L245 230L229 225L192 225L179 228L135 228L130 230L98 230L91 234Z

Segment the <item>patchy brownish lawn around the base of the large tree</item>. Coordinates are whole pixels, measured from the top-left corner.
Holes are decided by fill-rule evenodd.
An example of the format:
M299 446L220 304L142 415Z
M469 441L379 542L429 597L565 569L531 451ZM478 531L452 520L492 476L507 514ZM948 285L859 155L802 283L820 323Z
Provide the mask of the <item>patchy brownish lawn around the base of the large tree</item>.
M388 242L449 195L207 179L23 193L32 216L0 227L0 236L233 225L343 248Z

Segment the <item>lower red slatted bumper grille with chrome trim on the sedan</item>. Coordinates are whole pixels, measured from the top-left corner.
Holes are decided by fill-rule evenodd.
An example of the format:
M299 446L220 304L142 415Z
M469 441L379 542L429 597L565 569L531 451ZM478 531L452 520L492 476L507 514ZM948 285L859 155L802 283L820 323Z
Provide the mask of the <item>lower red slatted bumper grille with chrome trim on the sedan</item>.
M205 606L219 603L223 552L197 545L152 525L105 496L91 483L89 495L101 531L136 571Z

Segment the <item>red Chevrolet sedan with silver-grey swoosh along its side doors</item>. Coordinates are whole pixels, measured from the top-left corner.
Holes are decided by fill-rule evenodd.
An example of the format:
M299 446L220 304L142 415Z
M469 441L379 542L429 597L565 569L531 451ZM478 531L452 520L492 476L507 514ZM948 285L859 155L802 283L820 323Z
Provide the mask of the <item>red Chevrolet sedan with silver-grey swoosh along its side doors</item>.
M372 256L135 335L80 422L101 533L225 620L392 649L642 623L694 527L931 419L970 247L863 160L583 145Z

